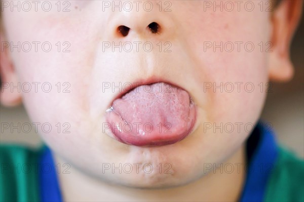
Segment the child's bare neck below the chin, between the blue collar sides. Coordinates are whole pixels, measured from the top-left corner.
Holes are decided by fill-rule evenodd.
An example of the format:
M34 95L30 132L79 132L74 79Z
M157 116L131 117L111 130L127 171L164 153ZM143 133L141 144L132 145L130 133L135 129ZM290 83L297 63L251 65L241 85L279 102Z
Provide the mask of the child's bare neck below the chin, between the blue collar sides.
M72 166L70 174L60 173L58 177L64 201L237 201L245 181L243 167L237 166L245 163L244 151L242 146L225 163L195 182L167 189L109 184ZM58 155L55 155L55 161L66 163Z

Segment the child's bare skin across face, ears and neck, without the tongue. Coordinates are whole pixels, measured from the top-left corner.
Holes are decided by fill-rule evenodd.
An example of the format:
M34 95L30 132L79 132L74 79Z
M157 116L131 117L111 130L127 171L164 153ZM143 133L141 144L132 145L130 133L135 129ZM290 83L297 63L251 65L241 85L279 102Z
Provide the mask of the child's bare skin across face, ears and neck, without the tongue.
M283 1L273 12L261 12L259 1L248 12L203 10L204 1L173 1L171 12L102 12L102 1L71 1L70 12L11 12L4 9L1 42L50 42L51 52L1 52L2 82L68 82L70 93L18 93L4 89L5 106L24 104L32 122L69 123L70 133L44 133L56 163L69 163L70 174L59 174L64 200L225 200L240 197L245 171L228 174L205 171L206 164L246 164L244 142L250 132L204 131L204 123L253 123L260 116L266 93L204 91L204 83L286 81L293 75L289 45L302 1ZM159 8L154 2L154 6ZM141 8L141 7L140 7ZM153 34L151 22L161 25ZM126 37L117 27L130 27ZM57 42L69 42L70 52L58 52ZM102 51L102 42L170 42L172 52ZM252 42L252 52L204 51L204 42ZM260 42L273 52L260 51ZM56 48L55 48L56 47ZM257 48L258 47L258 48ZM106 133L105 111L120 93L102 92L102 83L118 85L159 79L185 89L197 106L193 132L180 142L158 147L123 144ZM102 173L114 163L153 165L152 173ZM170 164L171 174L157 165ZM90 173L90 175L88 175ZM112 185L107 184L111 182ZM128 186L128 187L126 187ZM140 189L158 188L158 189Z

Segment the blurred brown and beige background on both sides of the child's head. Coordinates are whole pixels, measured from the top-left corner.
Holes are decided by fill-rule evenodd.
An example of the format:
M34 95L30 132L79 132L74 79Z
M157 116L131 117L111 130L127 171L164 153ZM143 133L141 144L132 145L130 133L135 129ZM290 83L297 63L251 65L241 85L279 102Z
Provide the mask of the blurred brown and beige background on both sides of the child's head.
M261 119L271 123L278 141L304 157L304 18L302 17L291 45L294 78L285 84L273 84L268 94ZM23 106L0 106L0 123L31 123ZM15 130L16 131L16 130ZM16 131L17 132L17 131ZM41 143L38 134L0 133L0 142L15 142L36 146Z

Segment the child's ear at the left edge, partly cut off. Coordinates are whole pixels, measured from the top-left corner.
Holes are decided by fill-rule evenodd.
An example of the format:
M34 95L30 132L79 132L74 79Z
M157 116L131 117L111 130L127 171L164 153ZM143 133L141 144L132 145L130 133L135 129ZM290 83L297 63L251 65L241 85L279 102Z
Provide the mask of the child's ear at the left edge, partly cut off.
M5 40L3 32L0 31L0 102L4 106L11 107L21 103L21 92L18 88L12 88L18 86L18 78L10 59L9 43Z

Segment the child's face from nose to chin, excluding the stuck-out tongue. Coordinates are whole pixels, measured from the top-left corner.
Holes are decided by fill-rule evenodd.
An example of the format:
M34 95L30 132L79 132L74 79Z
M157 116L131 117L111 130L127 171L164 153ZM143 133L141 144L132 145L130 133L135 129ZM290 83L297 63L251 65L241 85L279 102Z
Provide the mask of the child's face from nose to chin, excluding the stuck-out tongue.
M34 5L29 12L3 8L6 41L31 45L29 52L26 44L20 52L6 50L20 85L32 88L22 94L27 112L58 155L115 183L177 186L206 174L206 164L230 157L257 122L269 87L272 13L255 1L234 3L232 10L225 1L219 7L214 1L144 3L131 2L129 12L124 2L113 8L111 1L69 1L60 9L54 2L50 12L42 3L37 12ZM62 12L66 7L70 11ZM147 28L152 22L160 25L159 33ZM126 36L117 31L121 25L130 28ZM120 42L122 50L112 50ZM151 80L174 84L191 96L192 132L163 146L117 141L104 124L106 110L130 83ZM120 164L127 172L112 171ZM145 164L153 166L151 173Z

